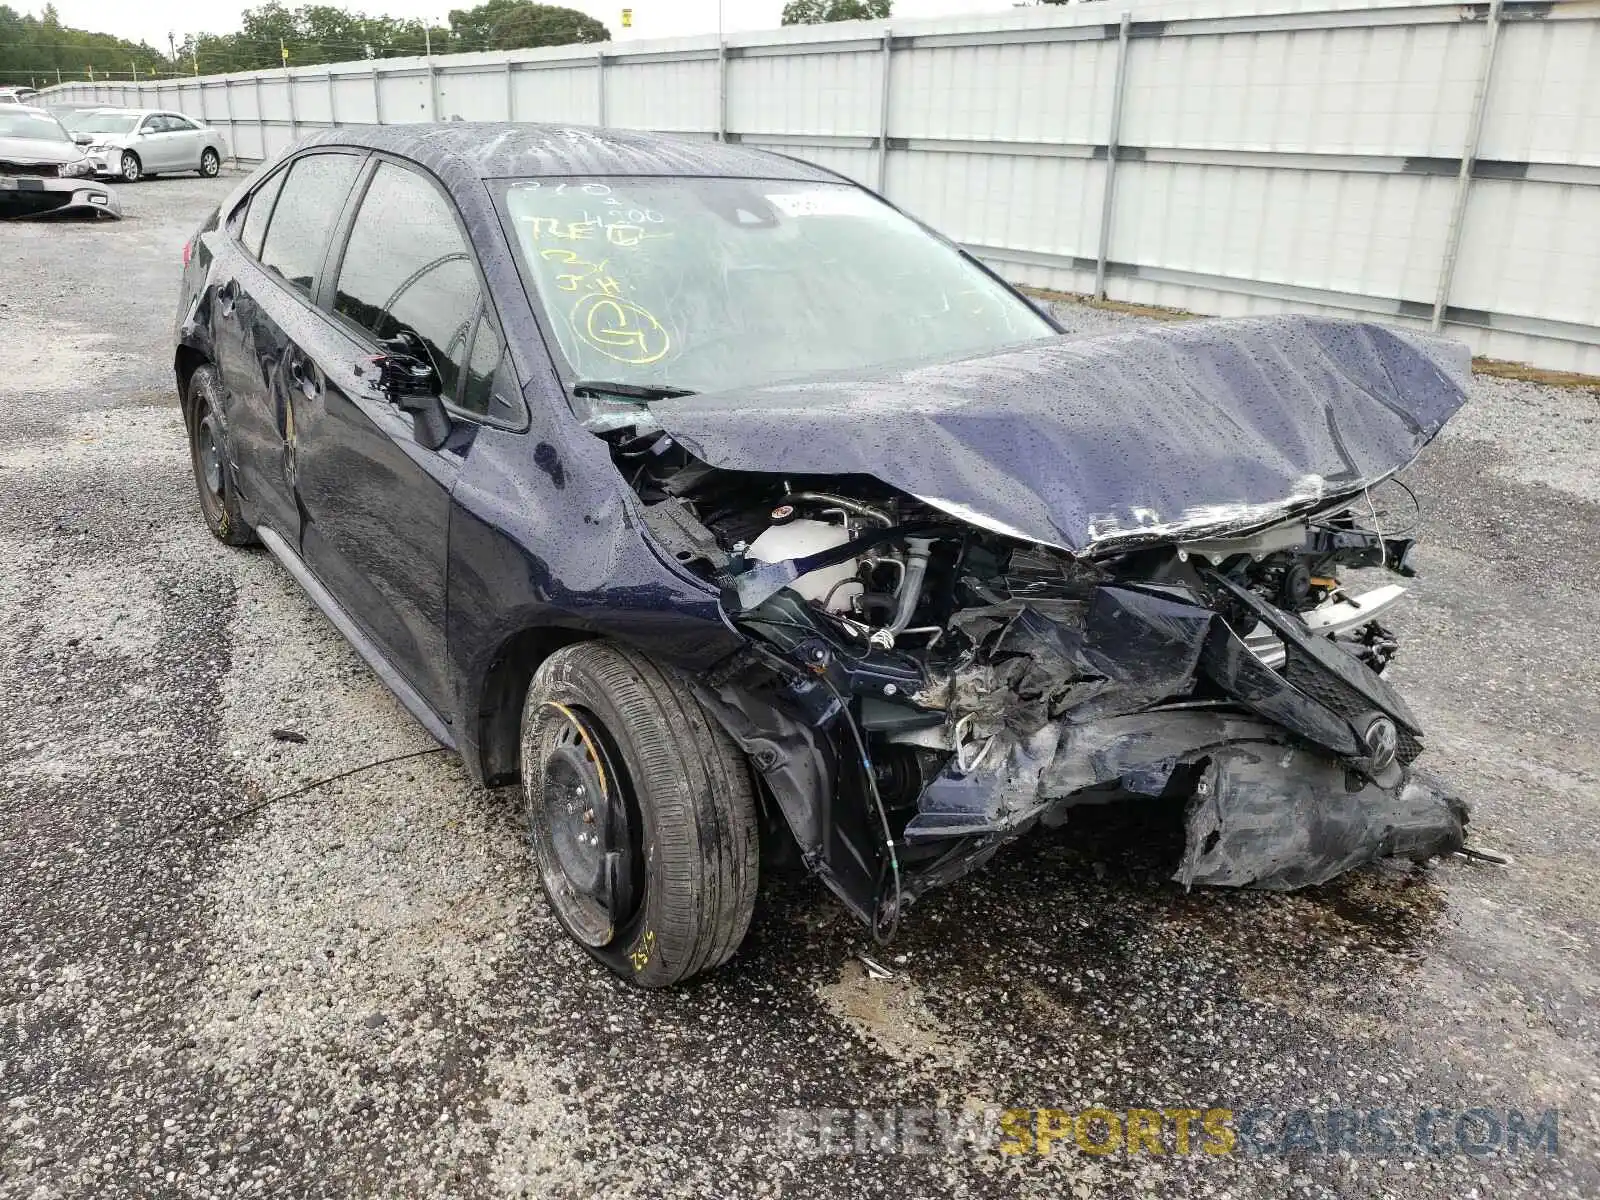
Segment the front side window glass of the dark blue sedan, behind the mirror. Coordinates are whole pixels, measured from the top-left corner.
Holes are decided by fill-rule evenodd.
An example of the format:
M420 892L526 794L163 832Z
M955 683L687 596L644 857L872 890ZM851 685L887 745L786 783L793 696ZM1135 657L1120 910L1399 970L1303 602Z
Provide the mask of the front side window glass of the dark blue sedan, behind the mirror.
M379 163L350 227L333 310L378 341L402 331L421 338L453 402L478 302L478 275L450 202L414 171Z

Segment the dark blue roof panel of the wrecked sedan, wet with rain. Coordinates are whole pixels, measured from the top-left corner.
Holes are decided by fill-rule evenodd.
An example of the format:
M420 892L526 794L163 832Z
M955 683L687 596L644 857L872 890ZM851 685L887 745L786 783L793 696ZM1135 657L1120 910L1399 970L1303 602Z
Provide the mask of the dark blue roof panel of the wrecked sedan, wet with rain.
M582 125L349 125L323 130L309 144L387 150L434 168L450 162L480 179L560 174L837 179L819 166L746 146Z

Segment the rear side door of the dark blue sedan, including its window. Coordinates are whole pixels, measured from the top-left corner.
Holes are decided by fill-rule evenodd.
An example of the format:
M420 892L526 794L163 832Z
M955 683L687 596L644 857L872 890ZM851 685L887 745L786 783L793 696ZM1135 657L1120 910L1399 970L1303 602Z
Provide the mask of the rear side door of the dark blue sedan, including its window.
M291 331L317 315L312 294L363 158L318 150L267 176L245 211L229 216L238 253L213 277L213 338L245 515L291 546L301 533L291 397L312 382Z

